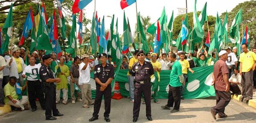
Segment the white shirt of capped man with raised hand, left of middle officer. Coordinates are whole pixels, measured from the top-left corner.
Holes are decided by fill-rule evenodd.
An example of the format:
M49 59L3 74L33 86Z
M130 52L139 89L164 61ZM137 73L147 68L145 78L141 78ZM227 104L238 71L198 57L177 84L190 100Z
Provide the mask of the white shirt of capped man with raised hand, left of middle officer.
M84 62L82 62L79 65L79 80L78 80L78 84L79 85L90 84L90 65L88 64L86 69L82 70L84 65L85 65Z

